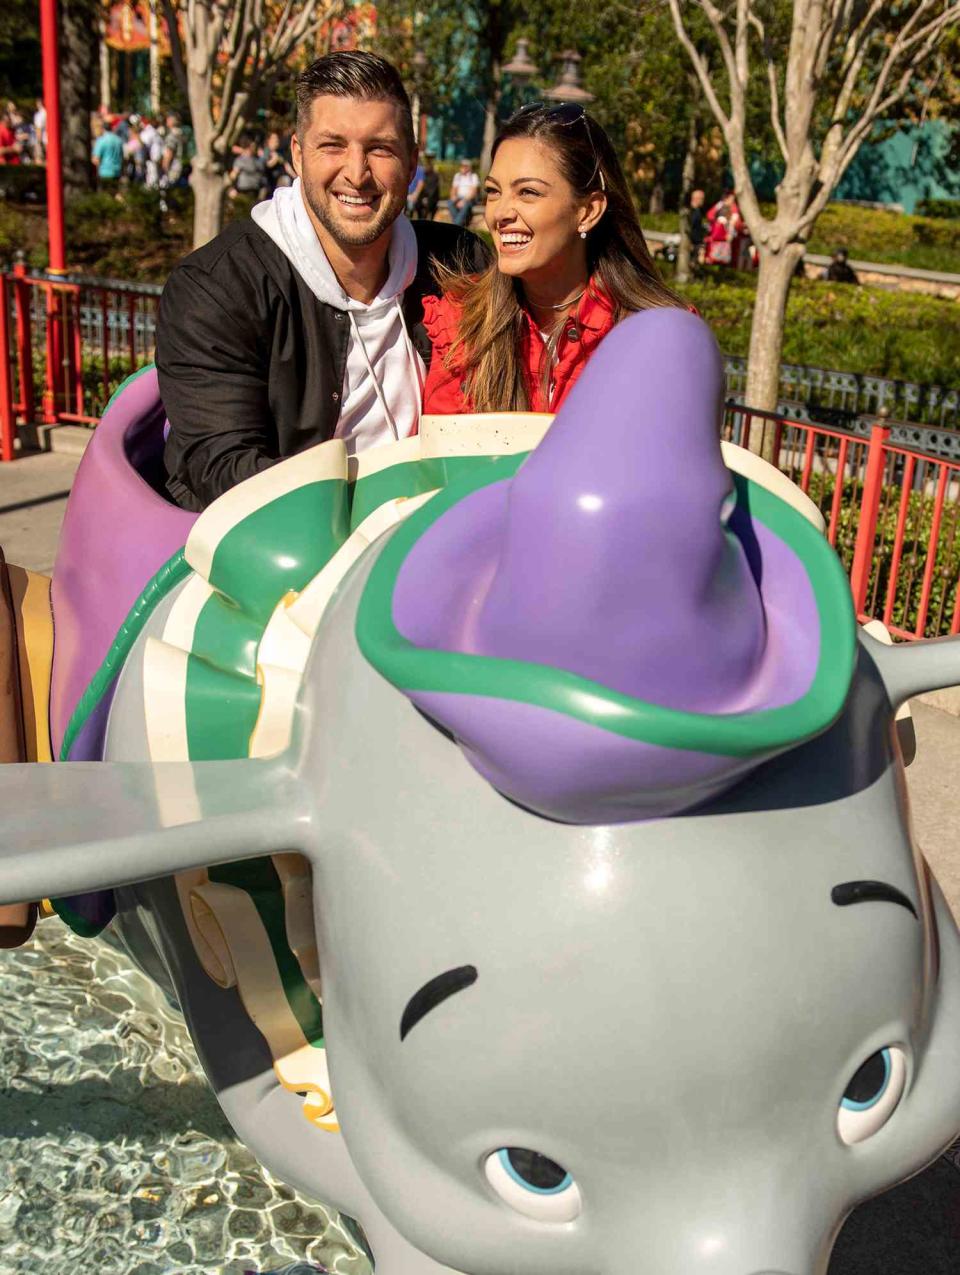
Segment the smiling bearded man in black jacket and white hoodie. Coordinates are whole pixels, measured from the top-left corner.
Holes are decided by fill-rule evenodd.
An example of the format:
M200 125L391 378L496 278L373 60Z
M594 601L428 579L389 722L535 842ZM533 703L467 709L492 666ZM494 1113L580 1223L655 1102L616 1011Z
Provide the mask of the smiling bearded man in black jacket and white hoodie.
M201 509L316 442L404 437L430 362L431 259L482 269L473 236L402 217L417 167L395 68L358 50L297 80L297 173L182 261L161 298L167 487Z

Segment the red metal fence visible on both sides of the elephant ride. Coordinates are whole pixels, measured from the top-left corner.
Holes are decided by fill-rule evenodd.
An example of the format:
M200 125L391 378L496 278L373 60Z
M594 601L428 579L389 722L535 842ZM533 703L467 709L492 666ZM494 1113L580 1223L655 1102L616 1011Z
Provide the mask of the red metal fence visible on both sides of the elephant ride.
M0 273L0 459L17 422L94 425L153 358L159 288ZM960 632L960 460L732 404L724 435L765 449L824 514L862 620L899 638Z

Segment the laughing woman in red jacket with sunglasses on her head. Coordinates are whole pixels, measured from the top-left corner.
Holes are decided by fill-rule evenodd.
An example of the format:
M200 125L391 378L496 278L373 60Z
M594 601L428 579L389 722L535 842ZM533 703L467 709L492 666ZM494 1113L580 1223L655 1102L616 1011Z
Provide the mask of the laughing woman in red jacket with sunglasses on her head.
M626 315L683 306L662 283L609 138L579 106L519 111L484 184L496 261L440 269L423 298L423 411L556 412Z

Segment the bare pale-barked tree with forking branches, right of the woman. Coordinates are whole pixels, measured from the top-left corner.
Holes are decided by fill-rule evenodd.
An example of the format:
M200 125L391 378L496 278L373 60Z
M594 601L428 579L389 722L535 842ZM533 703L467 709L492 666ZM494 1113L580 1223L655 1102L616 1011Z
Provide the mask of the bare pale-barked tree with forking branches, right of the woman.
M711 74L683 0L668 0L677 38L727 143L741 214L760 255L750 338L747 400L776 403L787 295L793 266L816 218L878 120L896 115L945 29L960 20L960 0L792 0L785 47L774 50L780 6L760 0L686 0L705 18L729 85ZM770 121L784 158L776 215L765 218L747 164L745 103L750 40L762 48ZM750 40L747 38L750 37ZM779 43L779 33L778 33ZM759 66L757 66L759 73ZM821 122L825 121L825 122Z

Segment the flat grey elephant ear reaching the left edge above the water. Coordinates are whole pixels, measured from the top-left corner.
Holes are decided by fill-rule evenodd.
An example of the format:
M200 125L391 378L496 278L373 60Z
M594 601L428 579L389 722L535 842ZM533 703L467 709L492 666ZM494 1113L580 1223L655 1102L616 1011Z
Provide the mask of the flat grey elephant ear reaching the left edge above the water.
M4 765L0 810L4 903L309 854L309 797L279 760Z

